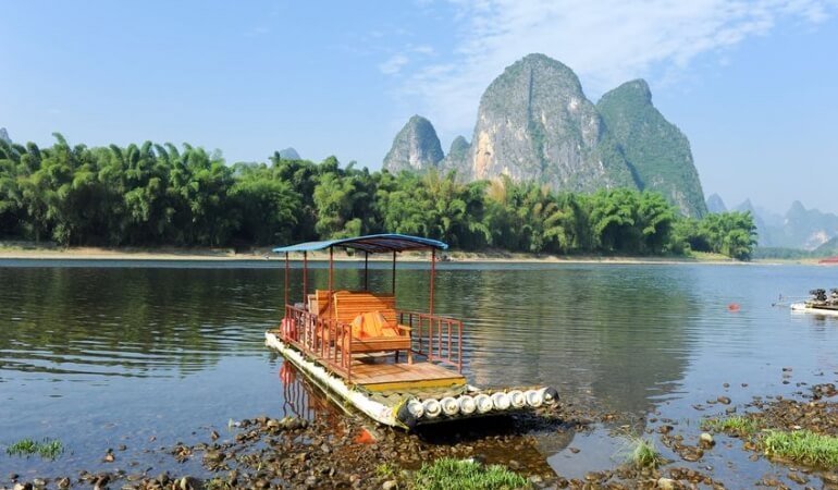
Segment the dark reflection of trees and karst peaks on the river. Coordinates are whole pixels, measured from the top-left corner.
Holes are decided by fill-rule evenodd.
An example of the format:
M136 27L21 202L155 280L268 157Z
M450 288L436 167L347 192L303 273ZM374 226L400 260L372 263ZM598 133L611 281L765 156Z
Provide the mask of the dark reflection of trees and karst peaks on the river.
M356 266L336 267L335 289L362 287ZM427 310L426 266L399 269L400 308ZM373 291L390 291L389 269L373 265ZM603 408L642 413L687 366L691 318L700 315L690 271L442 265L435 310L465 320L465 373L475 384L547 383ZM292 302L301 297L301 279L293 269ZM308 281L309 290L328 286L322 264ZM0 379L184 377L226 356L263 356L262 332L281 317L283 282L281 264L0 268Z

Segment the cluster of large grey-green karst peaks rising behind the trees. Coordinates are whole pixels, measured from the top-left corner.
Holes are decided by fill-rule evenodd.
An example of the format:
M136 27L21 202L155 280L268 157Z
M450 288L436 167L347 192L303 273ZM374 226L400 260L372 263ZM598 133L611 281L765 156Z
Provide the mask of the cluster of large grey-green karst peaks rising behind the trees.
M623 84L594 105L576 73L544 54L528 54L489 85L471 143L457 137L447 156L430 121L411 118L384 169L431 167L465 181L507 175L554 191L651 189L683 215L706 212L689 140L652 105L644 81Z

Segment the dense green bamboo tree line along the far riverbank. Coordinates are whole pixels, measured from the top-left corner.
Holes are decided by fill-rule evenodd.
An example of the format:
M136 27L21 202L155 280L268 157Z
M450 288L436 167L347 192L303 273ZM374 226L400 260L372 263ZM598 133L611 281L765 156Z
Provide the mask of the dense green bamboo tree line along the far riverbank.
M49 148L0 140L0 237L60 245L249 246L406 233L465 250L748 259L750 213L681 217L662 195L554 193L534 183L287 160L227 166L184 144Z

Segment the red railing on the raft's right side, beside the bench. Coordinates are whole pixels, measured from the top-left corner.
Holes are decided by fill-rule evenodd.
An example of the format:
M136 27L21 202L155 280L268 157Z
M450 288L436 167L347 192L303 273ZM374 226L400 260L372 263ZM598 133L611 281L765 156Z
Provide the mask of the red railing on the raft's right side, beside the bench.
M398 311L398 323L410 327L414 352L463 372L463 321L415 311Z

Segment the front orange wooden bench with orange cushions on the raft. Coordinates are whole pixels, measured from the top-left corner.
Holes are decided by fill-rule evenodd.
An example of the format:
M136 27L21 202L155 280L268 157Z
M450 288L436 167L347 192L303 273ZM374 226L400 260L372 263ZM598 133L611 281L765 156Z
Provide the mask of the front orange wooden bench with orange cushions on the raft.
M395 351L398 360L398 352L407 351L407 363L412 364L410 328L398 324L396 298L392 294L335 291L331 315L352 326L354 353Z

